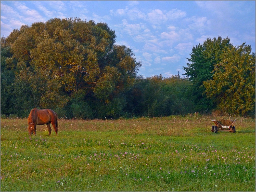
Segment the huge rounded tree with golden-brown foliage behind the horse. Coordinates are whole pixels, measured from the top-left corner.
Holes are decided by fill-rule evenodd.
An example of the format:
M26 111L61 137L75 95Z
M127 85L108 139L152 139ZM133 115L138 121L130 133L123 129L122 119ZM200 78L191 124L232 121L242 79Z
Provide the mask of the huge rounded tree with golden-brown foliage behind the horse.
M72 105L75 116L80 111L76 106L79 103L91 111L94 106L114 105L141 66L129 48L114 44L115 37L106 23L80 18L54 18L25 25L1 39L4 70L13 71L14 89L26 90L27 100L34 105L30 108ZM7 85L5 77L12 74L1 75L1 83ZM25 84L20 87L22 82ZM7 90L7 86L3 89ZM5 108L1 110L5 113ZM97 113L90 112L88 116L92 114ZM113 110L104 114L116 115Z

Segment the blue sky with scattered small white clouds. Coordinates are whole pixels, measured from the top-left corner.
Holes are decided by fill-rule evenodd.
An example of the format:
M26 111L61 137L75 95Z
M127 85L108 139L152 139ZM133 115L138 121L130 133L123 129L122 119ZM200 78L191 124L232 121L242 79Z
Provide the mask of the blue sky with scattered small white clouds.
M229 37L255 52L255 1L1 1L1 37L51 18L105 22L116 44L129 47L138 75L185 73L193 46L207 37Z

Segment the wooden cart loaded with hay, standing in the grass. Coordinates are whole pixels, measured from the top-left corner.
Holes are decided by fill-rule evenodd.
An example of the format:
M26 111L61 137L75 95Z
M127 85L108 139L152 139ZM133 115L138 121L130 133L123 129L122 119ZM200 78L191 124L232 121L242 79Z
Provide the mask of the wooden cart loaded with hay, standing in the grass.
M229 131L232 133L236 132L236 127L233 126L233 124L236 122L235 120L225 120L225 119L220 119L219 121L217 120L211 120L214 122L215 125L211 126L211 131L218 133L218 131Z

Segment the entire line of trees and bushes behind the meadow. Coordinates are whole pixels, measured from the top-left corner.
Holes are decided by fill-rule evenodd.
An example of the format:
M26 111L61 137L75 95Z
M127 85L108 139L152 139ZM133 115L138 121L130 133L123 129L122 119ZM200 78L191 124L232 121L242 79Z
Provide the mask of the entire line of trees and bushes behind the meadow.
M106 23L50 19L1 38L1 116L51 108L59 118L255 115L255 53L227 37L192 48L186 77L143 78L141 62L115 44Z

